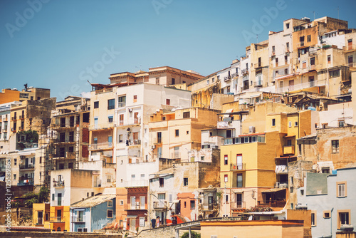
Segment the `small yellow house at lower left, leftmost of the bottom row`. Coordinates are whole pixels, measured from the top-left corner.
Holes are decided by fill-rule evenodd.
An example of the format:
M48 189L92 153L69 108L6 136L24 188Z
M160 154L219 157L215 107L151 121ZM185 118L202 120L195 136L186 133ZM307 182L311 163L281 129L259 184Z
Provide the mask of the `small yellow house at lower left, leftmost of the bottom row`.
M32 207L33 227L51 228L50 224L50 204L33 203Z

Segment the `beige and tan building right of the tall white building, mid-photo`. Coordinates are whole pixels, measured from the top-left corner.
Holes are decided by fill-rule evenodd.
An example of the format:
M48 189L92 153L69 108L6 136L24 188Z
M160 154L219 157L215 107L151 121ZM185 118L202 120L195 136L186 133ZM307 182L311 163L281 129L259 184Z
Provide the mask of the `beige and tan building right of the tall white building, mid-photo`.
M179 109L151 115L150 147L152 157L188 161L190 150L200 150L201 130L214 128L219 110L205 108Z

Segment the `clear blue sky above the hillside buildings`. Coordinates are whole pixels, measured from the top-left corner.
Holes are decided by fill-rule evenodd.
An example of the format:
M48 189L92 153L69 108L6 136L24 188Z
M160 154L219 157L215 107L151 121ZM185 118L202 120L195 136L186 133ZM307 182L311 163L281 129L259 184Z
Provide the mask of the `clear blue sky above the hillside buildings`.
M0 89L28 83L63 100L110 73L172 66L206 76L283 20L337 18L337 8L356 28L355 0L1 0Z

